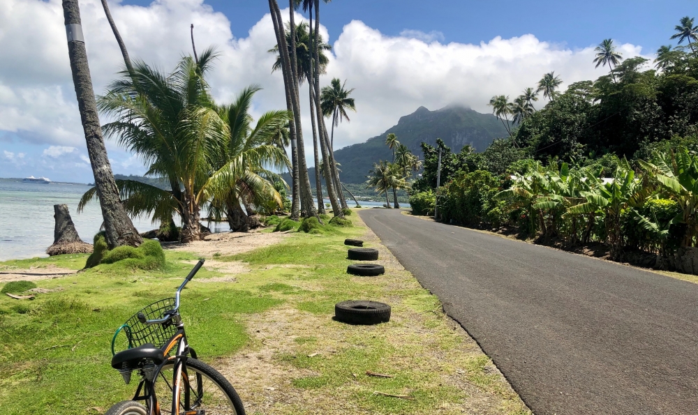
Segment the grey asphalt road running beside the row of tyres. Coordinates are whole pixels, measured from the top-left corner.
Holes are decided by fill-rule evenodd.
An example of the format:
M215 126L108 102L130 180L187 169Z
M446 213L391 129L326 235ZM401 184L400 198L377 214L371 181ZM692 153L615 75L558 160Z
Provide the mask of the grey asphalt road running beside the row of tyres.
M371 209L537 415L698 414L698 285Z

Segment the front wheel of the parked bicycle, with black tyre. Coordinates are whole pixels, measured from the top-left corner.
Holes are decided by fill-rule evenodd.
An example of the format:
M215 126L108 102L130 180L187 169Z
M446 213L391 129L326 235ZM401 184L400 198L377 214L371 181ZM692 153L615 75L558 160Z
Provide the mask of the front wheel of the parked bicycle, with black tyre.
M172 411L174 364L165 364L155 379L155 395L162 414ZM180 380L179 414L190 411L205 411L207 415L245 415L242 400L228 379L197 359L186 360L186 377Z

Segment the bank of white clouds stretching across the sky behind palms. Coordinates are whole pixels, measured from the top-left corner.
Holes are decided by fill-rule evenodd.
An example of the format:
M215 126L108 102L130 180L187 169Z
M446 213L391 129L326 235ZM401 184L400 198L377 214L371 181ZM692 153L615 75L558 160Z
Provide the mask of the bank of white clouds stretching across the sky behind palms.
M274 56L267 53L276 43L269 15L260 17L248 36L235 38L225 15L203 0L155 0L147 7L110 1L110 7L132 58L170 70L191 50L188 28L193 22L198 49L216 45L221 52L210 79L216 99L230 101L244 86L258 83L265 89L256 96L253 115L285 108L282 77L271 73ZM94 89L102 93L123 61L100 1L82 0L80 9ZM3 0L0 136L7 139L10 132L15 141L49 144L47 157L54 157L51 154L58 149L75 149L74 154L64 153L75 156L73 163L84 165L84 133L63 22L61 0ZM322 33L328 38L324 28ZM436 110L459 103L489 112L486 104L491 96L504 93L513 98L551 70L563 78L563 87L606 71L593 67L593 46L570 50L530 34L497 37L480 45L444 44L437 31L406 30L401 36L385 36L355 20L343 28L333 47L321 83L329 84L332 77L347 80L347 86L355 88L352 96L357 103L351 123L335 130L336 148L383 133L420 105ZM619 45L619 50L627 57L640 53L640 47L629 44ZM301 93L306 154L311 161L306 88ZM107 148L112 157L118 153L112 143ZM118 169L136 169L140 163L124 153L115 159L112 164Z

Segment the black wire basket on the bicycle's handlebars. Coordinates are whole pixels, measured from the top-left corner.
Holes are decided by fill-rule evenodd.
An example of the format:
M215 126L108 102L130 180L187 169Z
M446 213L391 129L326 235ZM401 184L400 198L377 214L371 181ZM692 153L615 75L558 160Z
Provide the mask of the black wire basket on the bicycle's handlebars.
M165 324L143 324L138 319L138 315L142 313L148 320L161 319L174 308L174 298L163 299L156 301L150 305L146 305L142 310L131 316L124 323L124 332L128 338L128 347L138 347L151 343L156 347L163 347L170 338L177 332L177 325L169 321Z

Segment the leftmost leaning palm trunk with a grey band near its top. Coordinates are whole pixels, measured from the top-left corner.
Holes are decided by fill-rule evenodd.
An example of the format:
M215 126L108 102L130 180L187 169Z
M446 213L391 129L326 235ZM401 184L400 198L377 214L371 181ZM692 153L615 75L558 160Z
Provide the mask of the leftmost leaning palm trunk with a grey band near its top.
M77 106L80 108L87 153L94 173L94 186L102 208L107 244L110 248L121 245L138 246L143 239L133 226L131 218L128 218L124 205L121 204L117 183L114 181L112 166L104 146L80 25L80 5L77 0L63 0L63 13L68 35L70 70L73 72Z

